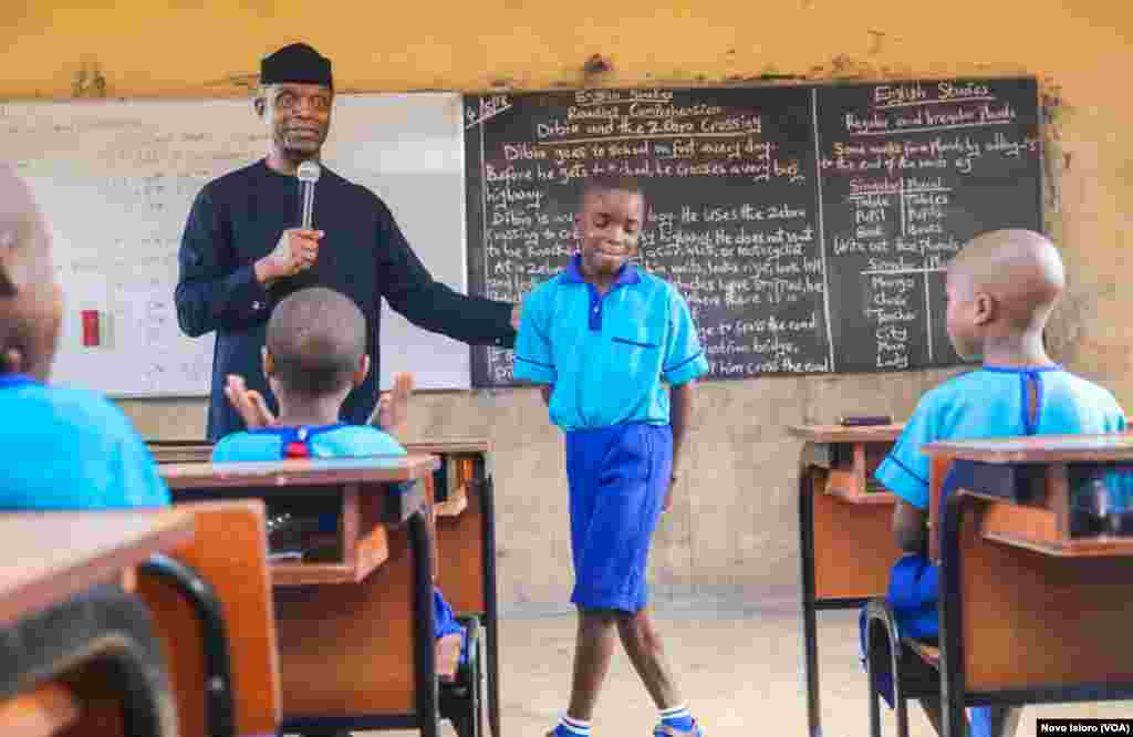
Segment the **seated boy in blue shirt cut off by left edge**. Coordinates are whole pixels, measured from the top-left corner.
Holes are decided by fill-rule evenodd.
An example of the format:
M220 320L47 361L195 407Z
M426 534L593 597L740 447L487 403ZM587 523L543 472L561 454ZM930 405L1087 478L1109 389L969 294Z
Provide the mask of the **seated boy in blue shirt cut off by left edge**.
M0 166L0 510L161 507L169 490L126 415L49 387L62 290L31 190Z

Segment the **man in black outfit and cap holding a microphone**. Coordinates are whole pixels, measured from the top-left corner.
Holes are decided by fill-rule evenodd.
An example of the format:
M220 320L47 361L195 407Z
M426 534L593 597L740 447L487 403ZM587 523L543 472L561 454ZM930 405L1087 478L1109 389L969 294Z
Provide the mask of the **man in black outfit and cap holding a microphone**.
M190 337L216 331L208 439L245 427L224 393L229 375L242 376L246 390L276 410L261 349L273 305L303 287L341 291L366 315L372 370L342 406L347 423L366 424L377 404L382 297L426 330L511 347L519 307L434 281L389 207L365 187L324 167L315 197L318 229L296 227L296 170L318 160L330 129L331 62L306 44L291 44L263 60L259 82L255 108L271 130L267 156L205 185L181 238L178 322Z

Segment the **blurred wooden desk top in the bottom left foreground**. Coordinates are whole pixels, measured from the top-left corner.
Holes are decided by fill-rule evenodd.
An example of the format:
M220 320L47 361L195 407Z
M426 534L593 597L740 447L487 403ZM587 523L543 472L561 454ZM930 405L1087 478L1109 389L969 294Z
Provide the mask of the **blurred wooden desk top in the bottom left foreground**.
M193 541L189 512L0 514L0 626Z

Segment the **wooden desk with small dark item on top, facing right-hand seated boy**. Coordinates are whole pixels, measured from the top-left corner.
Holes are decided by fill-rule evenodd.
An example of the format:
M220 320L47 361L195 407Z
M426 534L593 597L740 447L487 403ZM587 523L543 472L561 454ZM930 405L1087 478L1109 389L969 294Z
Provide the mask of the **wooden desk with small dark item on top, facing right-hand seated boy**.
M807 714L821 735L817 612L852 609L884 593L901 556L893 542L893 494L870 488L903 425L789 427L804 442L799 461L799 554Z

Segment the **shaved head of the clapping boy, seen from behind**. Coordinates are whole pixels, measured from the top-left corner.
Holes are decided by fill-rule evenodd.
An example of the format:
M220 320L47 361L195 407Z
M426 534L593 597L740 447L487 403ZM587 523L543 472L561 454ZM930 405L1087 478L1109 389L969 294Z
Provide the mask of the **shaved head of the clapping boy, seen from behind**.
M326 397L350 386L366 355L366 319L352 300L324 287L283 299L267 323L272 374L288 390Z

